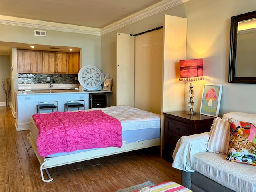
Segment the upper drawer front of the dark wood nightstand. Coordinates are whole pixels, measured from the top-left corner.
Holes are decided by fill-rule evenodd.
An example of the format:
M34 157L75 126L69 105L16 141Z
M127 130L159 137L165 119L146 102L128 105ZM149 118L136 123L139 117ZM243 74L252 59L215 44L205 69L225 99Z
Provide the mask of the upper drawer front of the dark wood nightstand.
M191 132L191 124L176 120L169 120L168 118L166 118L165 126L166 134L170 134L176 137L186 136Z

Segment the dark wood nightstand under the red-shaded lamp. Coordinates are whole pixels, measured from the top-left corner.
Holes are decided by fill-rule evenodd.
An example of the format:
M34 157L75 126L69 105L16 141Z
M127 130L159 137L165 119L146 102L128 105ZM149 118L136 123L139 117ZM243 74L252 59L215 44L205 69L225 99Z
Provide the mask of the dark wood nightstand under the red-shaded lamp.
M186 111L164 112L164 151L163 158L172 162L177 141L180 137L210 131L214 117Z

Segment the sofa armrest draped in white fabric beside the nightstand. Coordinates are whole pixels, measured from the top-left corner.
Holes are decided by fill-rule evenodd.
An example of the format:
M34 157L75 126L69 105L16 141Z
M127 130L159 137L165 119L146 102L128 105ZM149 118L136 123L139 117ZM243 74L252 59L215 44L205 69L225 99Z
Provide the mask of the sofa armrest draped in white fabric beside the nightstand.
M172 167L187 171L194 172L192 169L193 155L196 153L207 152L206 144L209 132L204 132L195 135L181 137L173 152Z

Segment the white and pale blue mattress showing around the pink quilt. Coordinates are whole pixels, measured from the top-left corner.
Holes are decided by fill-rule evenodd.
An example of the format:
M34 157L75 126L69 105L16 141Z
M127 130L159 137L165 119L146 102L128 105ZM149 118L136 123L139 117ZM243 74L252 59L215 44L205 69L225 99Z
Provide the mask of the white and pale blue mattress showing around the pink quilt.
M107 108L95 108L90 110L102 110L102 112L120 120L122 125L123 144L160 138L160 115L140 110L130 106L112 106ZM90 111L84 110L84 111ZM75 111L73 111L75 112ZM30 132L36 141L38 128L33 118L30 118ZM48 157L62 156L94 149L77 150L71 153L57 153Z

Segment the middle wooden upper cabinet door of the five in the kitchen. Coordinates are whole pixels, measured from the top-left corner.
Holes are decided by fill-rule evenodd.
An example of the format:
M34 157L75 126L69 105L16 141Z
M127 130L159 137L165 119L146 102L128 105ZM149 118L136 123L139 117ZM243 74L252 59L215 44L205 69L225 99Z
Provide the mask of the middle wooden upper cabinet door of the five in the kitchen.
M53 51L43 52L43 65L44 65L44 74L56 73L55 52Z

